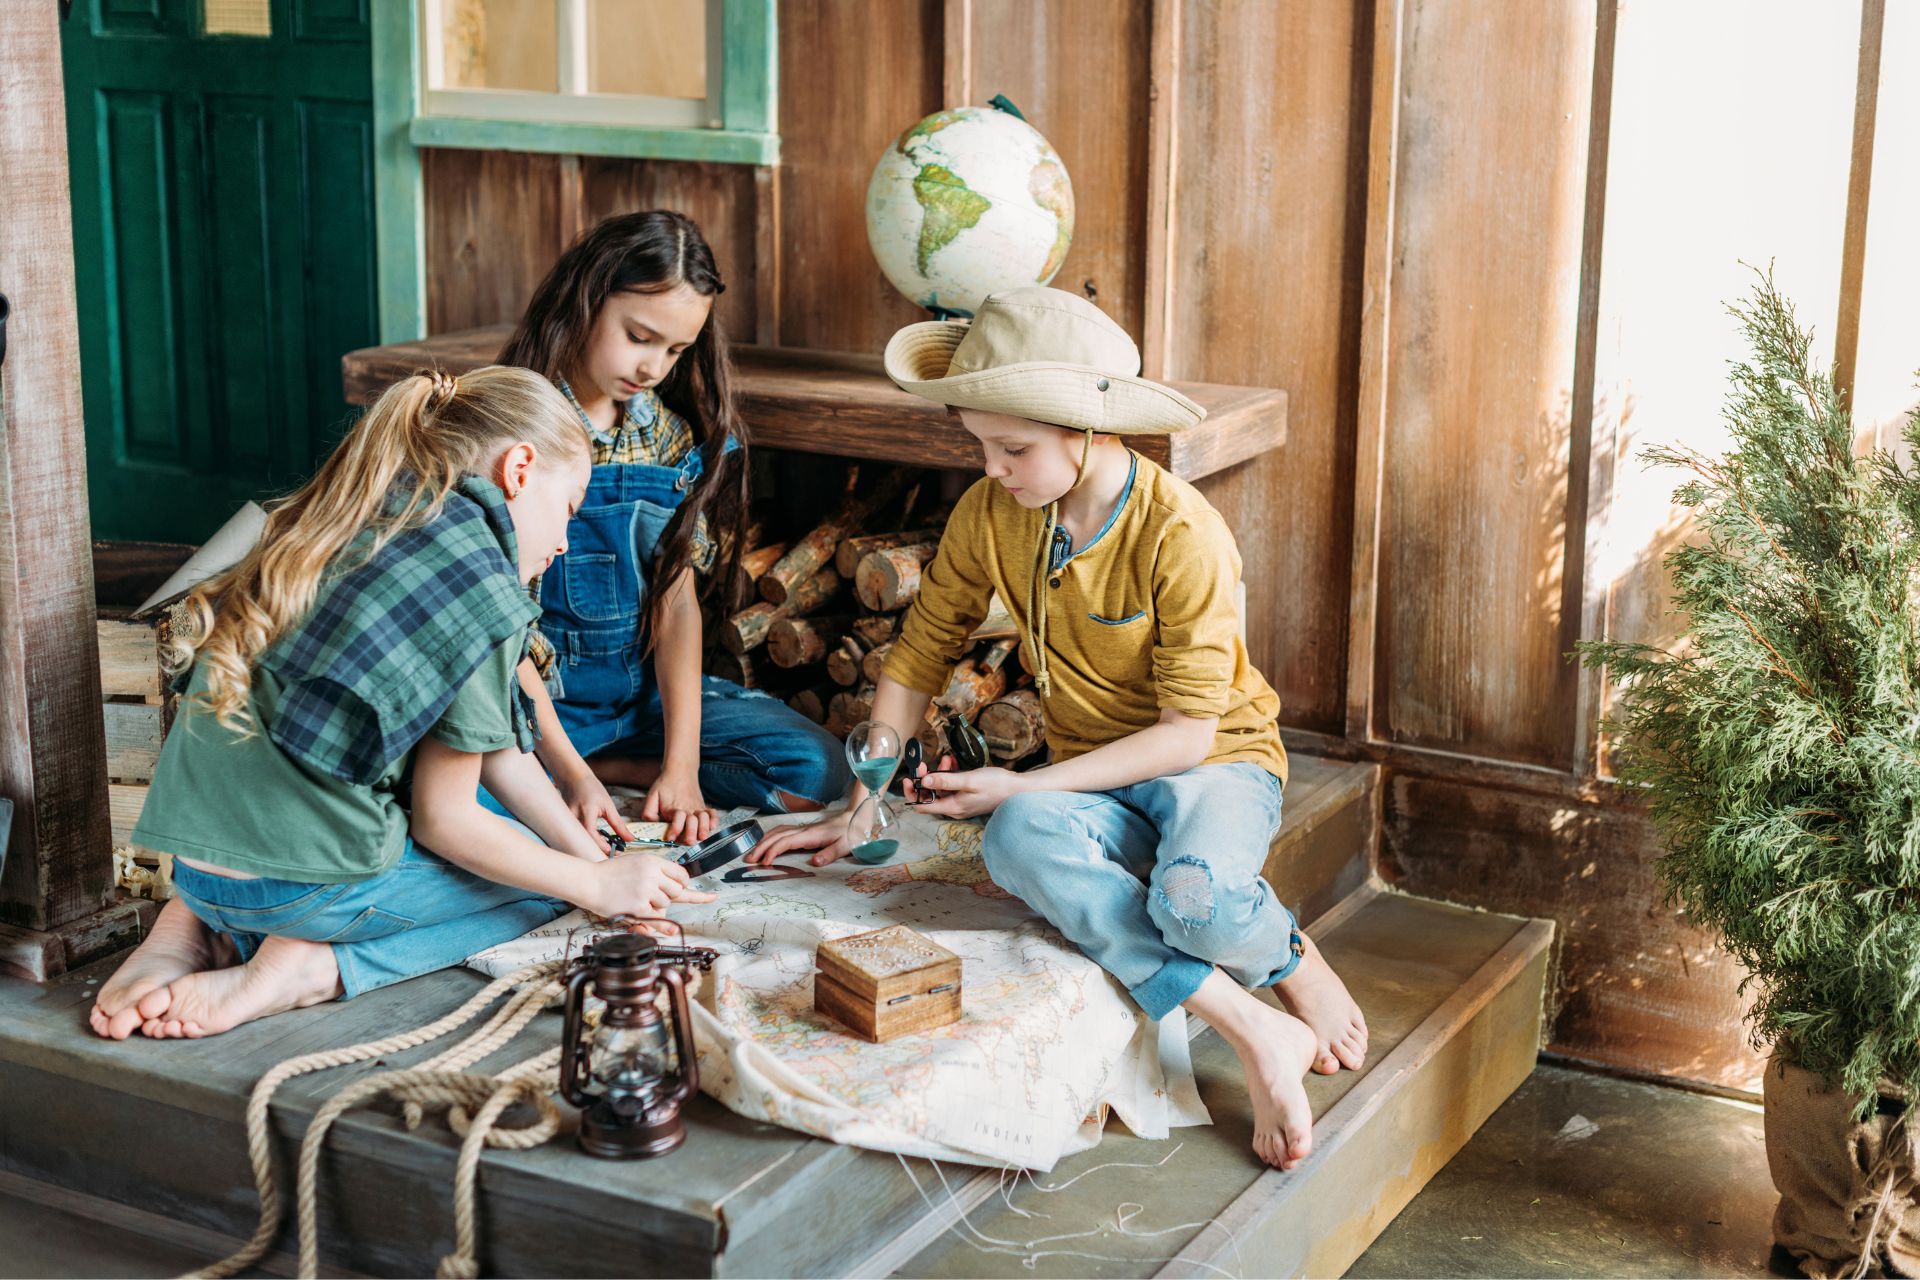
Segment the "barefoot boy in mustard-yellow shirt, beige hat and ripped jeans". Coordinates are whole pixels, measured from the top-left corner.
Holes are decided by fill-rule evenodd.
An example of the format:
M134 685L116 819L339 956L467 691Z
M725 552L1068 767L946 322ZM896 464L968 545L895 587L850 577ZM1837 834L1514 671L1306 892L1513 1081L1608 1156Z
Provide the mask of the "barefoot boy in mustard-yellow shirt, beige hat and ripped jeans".
M1077 294L995 294L972 324L910 324L887 374L979 438L879 679L872 718L918 725L995 591L1023 629L1050 762L910 783L925 814L991 814L995 883L1117 977L1150 1017L1185 1006L1240 1057L1254 1151L1311 1150L1302 1077L1359 1067L1367 1025L1261 879L1281 821L1279 697L1246 658L1240 555L1200 493L1119 438L1204 411L1139 378L1133 340ZM852 806L864 798L854 783ZM851 812L849 808L849 812ZM753 862L849 852L847 818L785 827ZM1246 988L1273 986L1286 1011Z

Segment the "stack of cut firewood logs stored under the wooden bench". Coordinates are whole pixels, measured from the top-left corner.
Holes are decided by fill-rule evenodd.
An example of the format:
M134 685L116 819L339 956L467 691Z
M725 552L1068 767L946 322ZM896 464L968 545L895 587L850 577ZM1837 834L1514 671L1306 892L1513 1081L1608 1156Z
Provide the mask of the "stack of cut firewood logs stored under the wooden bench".
M749 689L783 697L787 706L835 737L868 718L874 681L920 593L939 549L945 510L929 510L908 472L891 472L856 493L858 468L835 510L791 541L756 533L741 557L735 599L753 599L718 620L707 670ZM749 587L751 580L751 591ZM943 750L939 722L964 716L987 737L996 764L1014 764L1044 745L1039 697L1020 658L1014 620L995 601L954 666L947 689L927 708L922 748Z

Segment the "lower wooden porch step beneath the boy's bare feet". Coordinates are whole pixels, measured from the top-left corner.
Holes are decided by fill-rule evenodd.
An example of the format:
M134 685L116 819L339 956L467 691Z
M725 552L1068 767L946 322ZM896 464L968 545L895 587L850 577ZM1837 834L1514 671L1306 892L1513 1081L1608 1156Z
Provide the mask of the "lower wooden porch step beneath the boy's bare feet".
M929 1188L943 1213L900 1242L924 1247L895 1245L862 1272L1342 1274L1532 1071L1553 925L1369 887L1311 933L1367 1013L1371 1055L1357 1075L1308 1077L1306 1163L1254 1159L1240 1065L1200 1031L1212 1126L1148 1142L1116 1121L1098 1148L1008 1178L1004 1196L996 1173L948 1169L954 1194ZM1089 1234L1058 1238L1069 1232Z

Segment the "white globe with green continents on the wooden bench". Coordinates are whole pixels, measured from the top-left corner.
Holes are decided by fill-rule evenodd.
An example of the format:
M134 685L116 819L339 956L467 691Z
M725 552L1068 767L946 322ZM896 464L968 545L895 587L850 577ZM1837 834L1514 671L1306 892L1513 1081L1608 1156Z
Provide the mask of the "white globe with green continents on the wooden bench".
M1073 244L1073 184L1018 111L935 111L874 165L866 238L914 303L973 315L995 290L1054 278Z

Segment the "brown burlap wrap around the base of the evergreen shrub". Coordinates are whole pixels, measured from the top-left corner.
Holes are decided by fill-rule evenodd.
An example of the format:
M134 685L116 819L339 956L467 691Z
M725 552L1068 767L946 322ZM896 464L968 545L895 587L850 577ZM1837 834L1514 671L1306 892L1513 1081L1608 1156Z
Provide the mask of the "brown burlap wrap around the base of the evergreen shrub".
M1899 1090L1857 1121L1855 1098L1774 1054L1764 1100L1774 1244L1816 1280L1920 1276L1920 1125Z

